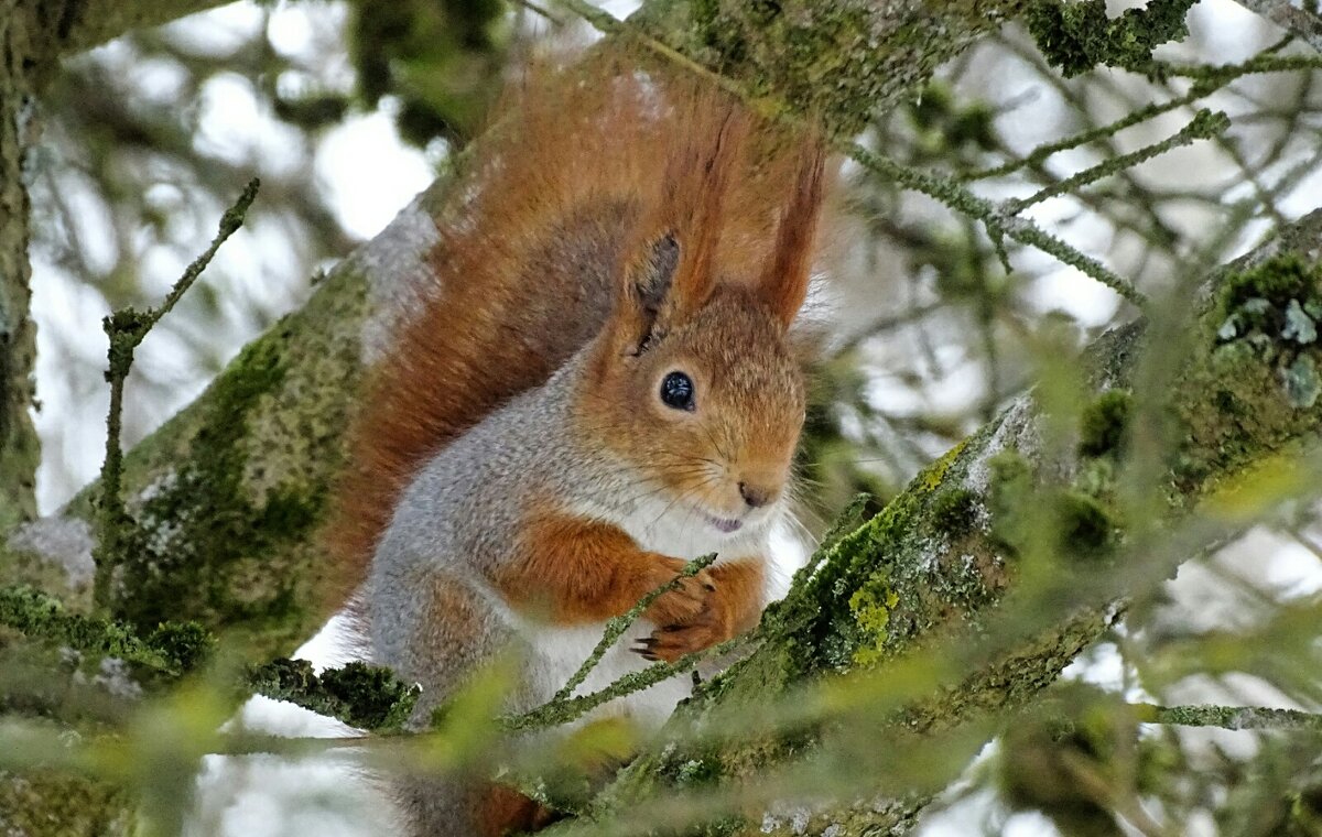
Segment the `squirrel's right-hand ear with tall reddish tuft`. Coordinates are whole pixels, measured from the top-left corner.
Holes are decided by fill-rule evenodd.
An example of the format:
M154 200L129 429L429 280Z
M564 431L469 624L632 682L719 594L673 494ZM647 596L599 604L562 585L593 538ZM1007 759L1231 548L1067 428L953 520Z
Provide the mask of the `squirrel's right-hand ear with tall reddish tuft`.
M795 321L808 296L825 157L821 139L810 138L800 153L795 190L776 229L776 249L758 283L763 301L785 328Z

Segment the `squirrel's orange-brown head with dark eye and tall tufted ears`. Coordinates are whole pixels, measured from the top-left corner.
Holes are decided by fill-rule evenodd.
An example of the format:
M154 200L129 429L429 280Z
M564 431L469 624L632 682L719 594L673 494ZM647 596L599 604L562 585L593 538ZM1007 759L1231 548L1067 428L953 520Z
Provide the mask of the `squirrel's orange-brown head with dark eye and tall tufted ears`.
M637 475L639 498L722 533L767 521L787 493L805 411L788 331L808 292L822 189L813 139L779 208L769 257L718 266L746 131L727 110L709 148L672 152L661 206L641 223L578 401L592 442Z

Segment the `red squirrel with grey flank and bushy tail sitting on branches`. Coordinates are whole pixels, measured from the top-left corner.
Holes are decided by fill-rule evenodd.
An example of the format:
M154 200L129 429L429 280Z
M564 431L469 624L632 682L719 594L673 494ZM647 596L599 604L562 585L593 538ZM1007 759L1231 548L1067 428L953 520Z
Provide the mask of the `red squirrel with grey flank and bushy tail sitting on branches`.
M333 538L373 661L422 685L419 727L512 645L500 709L546 702L608 619L699 555L718 558L578 692L751 628L804 423L789 328L816 135L598 62L533 86L479 145L438 218L435 282L374 372ZM683 681L598 714L658 722ZM497 785L403 784L415 834L541 816Z

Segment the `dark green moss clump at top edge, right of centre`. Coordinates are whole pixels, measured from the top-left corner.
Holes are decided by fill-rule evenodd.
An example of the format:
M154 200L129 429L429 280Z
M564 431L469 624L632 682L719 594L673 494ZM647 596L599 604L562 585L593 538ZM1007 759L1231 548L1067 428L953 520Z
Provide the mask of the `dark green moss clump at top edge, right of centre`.
M1043 57L1066 78L1099 63L1144 71L1153 49L1188 34L1185 17L1194 3L1150 0L1112 19L1105 0L1034 0L1023 19Z

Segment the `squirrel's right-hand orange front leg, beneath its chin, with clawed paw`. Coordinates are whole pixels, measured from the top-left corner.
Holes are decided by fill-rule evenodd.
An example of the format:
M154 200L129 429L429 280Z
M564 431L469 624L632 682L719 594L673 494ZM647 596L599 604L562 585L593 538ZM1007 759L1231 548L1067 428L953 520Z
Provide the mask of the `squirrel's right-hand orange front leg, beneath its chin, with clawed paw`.
M662 624L652 636L639 640L636 651L648 660L674 662L685 655L711 648L744 631L761 616L765 590L763 562L747 558L720 563L709 570L715 591L709 607L685 624Z

